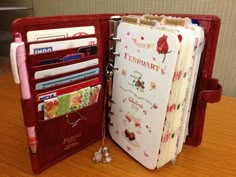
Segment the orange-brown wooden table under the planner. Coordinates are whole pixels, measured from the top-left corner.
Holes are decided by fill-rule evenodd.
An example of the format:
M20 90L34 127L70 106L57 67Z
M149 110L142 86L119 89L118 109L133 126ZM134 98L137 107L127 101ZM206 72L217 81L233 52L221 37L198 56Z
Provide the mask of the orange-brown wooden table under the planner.
M0 75L0 176L35 176L31 171L18 86L11 74ZM150 171L134 161L109 137L111 164L94 164L101 142L72 155L39 176L50 177L228 177L236 176L236 99L208 104L204 137L199 147L185 145L176 164Z

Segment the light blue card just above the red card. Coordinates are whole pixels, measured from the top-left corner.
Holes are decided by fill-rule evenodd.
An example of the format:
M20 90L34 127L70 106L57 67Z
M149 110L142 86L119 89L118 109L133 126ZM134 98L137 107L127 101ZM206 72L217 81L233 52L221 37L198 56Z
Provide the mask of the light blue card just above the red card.
M94 68L94 69L90 69L87 71L83 71L80 73L76 73L76 74L72 74L69 76L64 76L61 78L56 78L56 79L52 79L52 80L48 80L48 81L44 81L44 82L39 82L37 84L35 84L35 90L40 90L40 89L44 89L44 88L50 88L53 86L57 86L57 85L61 85L61 84L65 84L65 83L69 83L69 82L73 82L73 81L78 81L90 76L94 76L96 74L99 73L99 68Z

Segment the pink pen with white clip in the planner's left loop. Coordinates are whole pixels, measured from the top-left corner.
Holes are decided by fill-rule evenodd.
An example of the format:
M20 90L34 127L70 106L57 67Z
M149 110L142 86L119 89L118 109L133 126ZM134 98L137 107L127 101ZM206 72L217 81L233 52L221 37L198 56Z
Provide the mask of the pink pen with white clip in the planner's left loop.
M16 69L15 73L18 72L22 99L28 100L31 98L31 94L30 94L30 86L29 86L28 73L27 73L27 67L26 67L25 45L24 45L24 42L22 41L20 33L15 33L14 44L15 44L14 51L16 52L15 60L16 60L16 65L17 65L17 68L15 68ZM37 139L36 139L36 133L35 133L35 126L27 127L27 135L28 135L28 142L29 142L29 147L31 149L31 152L35 154L37 151Z

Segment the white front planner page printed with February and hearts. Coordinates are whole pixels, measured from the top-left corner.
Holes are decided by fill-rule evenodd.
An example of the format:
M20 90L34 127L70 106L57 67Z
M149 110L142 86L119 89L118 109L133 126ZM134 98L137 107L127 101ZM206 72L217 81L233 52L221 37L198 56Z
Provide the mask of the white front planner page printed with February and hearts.
M154 169L179 39L171 30L126 22L117 37L109 131L127 153Z

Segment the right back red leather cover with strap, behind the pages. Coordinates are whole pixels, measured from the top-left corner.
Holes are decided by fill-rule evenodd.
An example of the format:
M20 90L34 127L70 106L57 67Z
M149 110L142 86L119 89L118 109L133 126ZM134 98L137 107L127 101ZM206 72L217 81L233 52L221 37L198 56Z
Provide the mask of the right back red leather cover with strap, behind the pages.
M199 20L205 32L205 50L201 58L193 106L191 110L189 136L186 144L200 145L202 141L205 111L207 102L218 102L221 98L222 87L217 79L212 78L215 61L217 40L220 30L220 19L217 16L202 15Z

